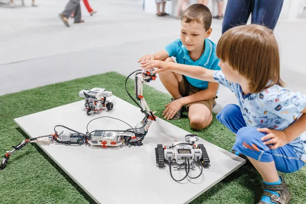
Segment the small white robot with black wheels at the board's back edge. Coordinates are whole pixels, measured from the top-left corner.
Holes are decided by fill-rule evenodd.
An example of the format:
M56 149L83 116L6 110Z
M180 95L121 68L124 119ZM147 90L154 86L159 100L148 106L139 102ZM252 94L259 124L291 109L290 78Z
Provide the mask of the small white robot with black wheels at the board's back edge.
M80 97L85 98L85 109L87 115L99 113L105 109L112 110L114 104L106 98L113 95L113 92L103 88L92 88L90 90L82 90L79 93Z

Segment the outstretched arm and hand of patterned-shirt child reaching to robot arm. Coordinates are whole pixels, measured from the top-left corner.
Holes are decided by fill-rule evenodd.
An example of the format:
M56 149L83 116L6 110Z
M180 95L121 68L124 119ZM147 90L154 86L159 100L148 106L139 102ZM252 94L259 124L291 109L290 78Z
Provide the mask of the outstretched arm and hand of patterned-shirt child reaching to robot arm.
M203 68L200 66L164 62L160 60L148 60L145 62L141 62L141 64L142 64L141 67L143 67L144 70L158 68L155 71L153 71L153 73L173 71L194 79L208 81L208 82L216 82L213 77L215 70Z

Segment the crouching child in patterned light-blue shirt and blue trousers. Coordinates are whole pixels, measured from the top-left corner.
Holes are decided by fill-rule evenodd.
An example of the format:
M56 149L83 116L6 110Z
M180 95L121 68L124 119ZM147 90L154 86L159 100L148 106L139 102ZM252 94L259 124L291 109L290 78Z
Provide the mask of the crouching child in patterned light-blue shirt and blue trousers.
M216 53L221 71L158 60L143 62L142 67L219 82L234 92L239 106L227 105L216 116L236 134L233 152L261 174L264 193L259 203L289 203L291 193L277 171L294 172L306 162L306 96L284 88L276 39L262 25L228 30Z

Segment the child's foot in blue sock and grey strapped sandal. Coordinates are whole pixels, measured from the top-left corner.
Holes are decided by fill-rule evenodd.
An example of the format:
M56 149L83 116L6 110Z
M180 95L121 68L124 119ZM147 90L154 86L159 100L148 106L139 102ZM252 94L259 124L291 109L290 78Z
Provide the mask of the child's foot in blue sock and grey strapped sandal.
M283 175L278 175L279 181L274 183L263 183L264 193L258 204L276 203L287 204L291 200L291 193L284 181Z

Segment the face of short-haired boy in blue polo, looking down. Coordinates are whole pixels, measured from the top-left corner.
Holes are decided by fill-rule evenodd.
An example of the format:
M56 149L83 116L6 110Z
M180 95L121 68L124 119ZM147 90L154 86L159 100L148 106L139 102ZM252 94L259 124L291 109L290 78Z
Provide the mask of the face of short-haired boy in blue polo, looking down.
M205 38L208 38L211 32L211 28L208 31L205 30L203 23L182 20L181 41L188 51L203 47Z

